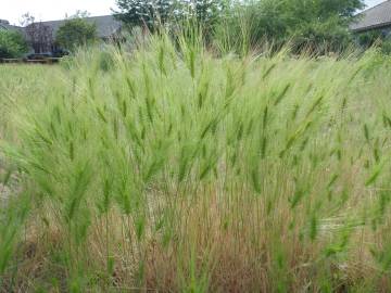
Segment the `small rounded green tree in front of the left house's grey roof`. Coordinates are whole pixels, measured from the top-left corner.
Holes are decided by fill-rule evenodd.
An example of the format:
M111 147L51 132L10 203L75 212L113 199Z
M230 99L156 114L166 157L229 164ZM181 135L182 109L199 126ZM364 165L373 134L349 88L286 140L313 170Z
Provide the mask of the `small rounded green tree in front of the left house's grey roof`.
M72 51L77 47L93 43L97 38L96 24L88 23L77 14L60 26L55 42L63 49Z

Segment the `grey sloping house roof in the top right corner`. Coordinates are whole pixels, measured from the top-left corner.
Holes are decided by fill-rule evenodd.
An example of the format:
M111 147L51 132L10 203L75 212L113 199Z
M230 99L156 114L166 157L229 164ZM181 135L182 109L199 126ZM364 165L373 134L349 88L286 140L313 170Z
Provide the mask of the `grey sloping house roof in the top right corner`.
M360 33L388 26L391 26L391 0L360 13L351 29Z

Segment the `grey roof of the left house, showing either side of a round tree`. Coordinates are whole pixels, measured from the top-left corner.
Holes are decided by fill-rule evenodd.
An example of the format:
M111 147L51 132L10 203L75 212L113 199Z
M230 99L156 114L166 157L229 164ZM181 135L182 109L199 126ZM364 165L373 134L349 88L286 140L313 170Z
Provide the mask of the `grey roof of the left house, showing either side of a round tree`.
M113 15L93 16L84 18L86 22L97 25L97 35L99 38L109 38L117 33L122 25L114 18ZM66 22L66 20L42 22L43 25L52 29L53 37L59 28Z

